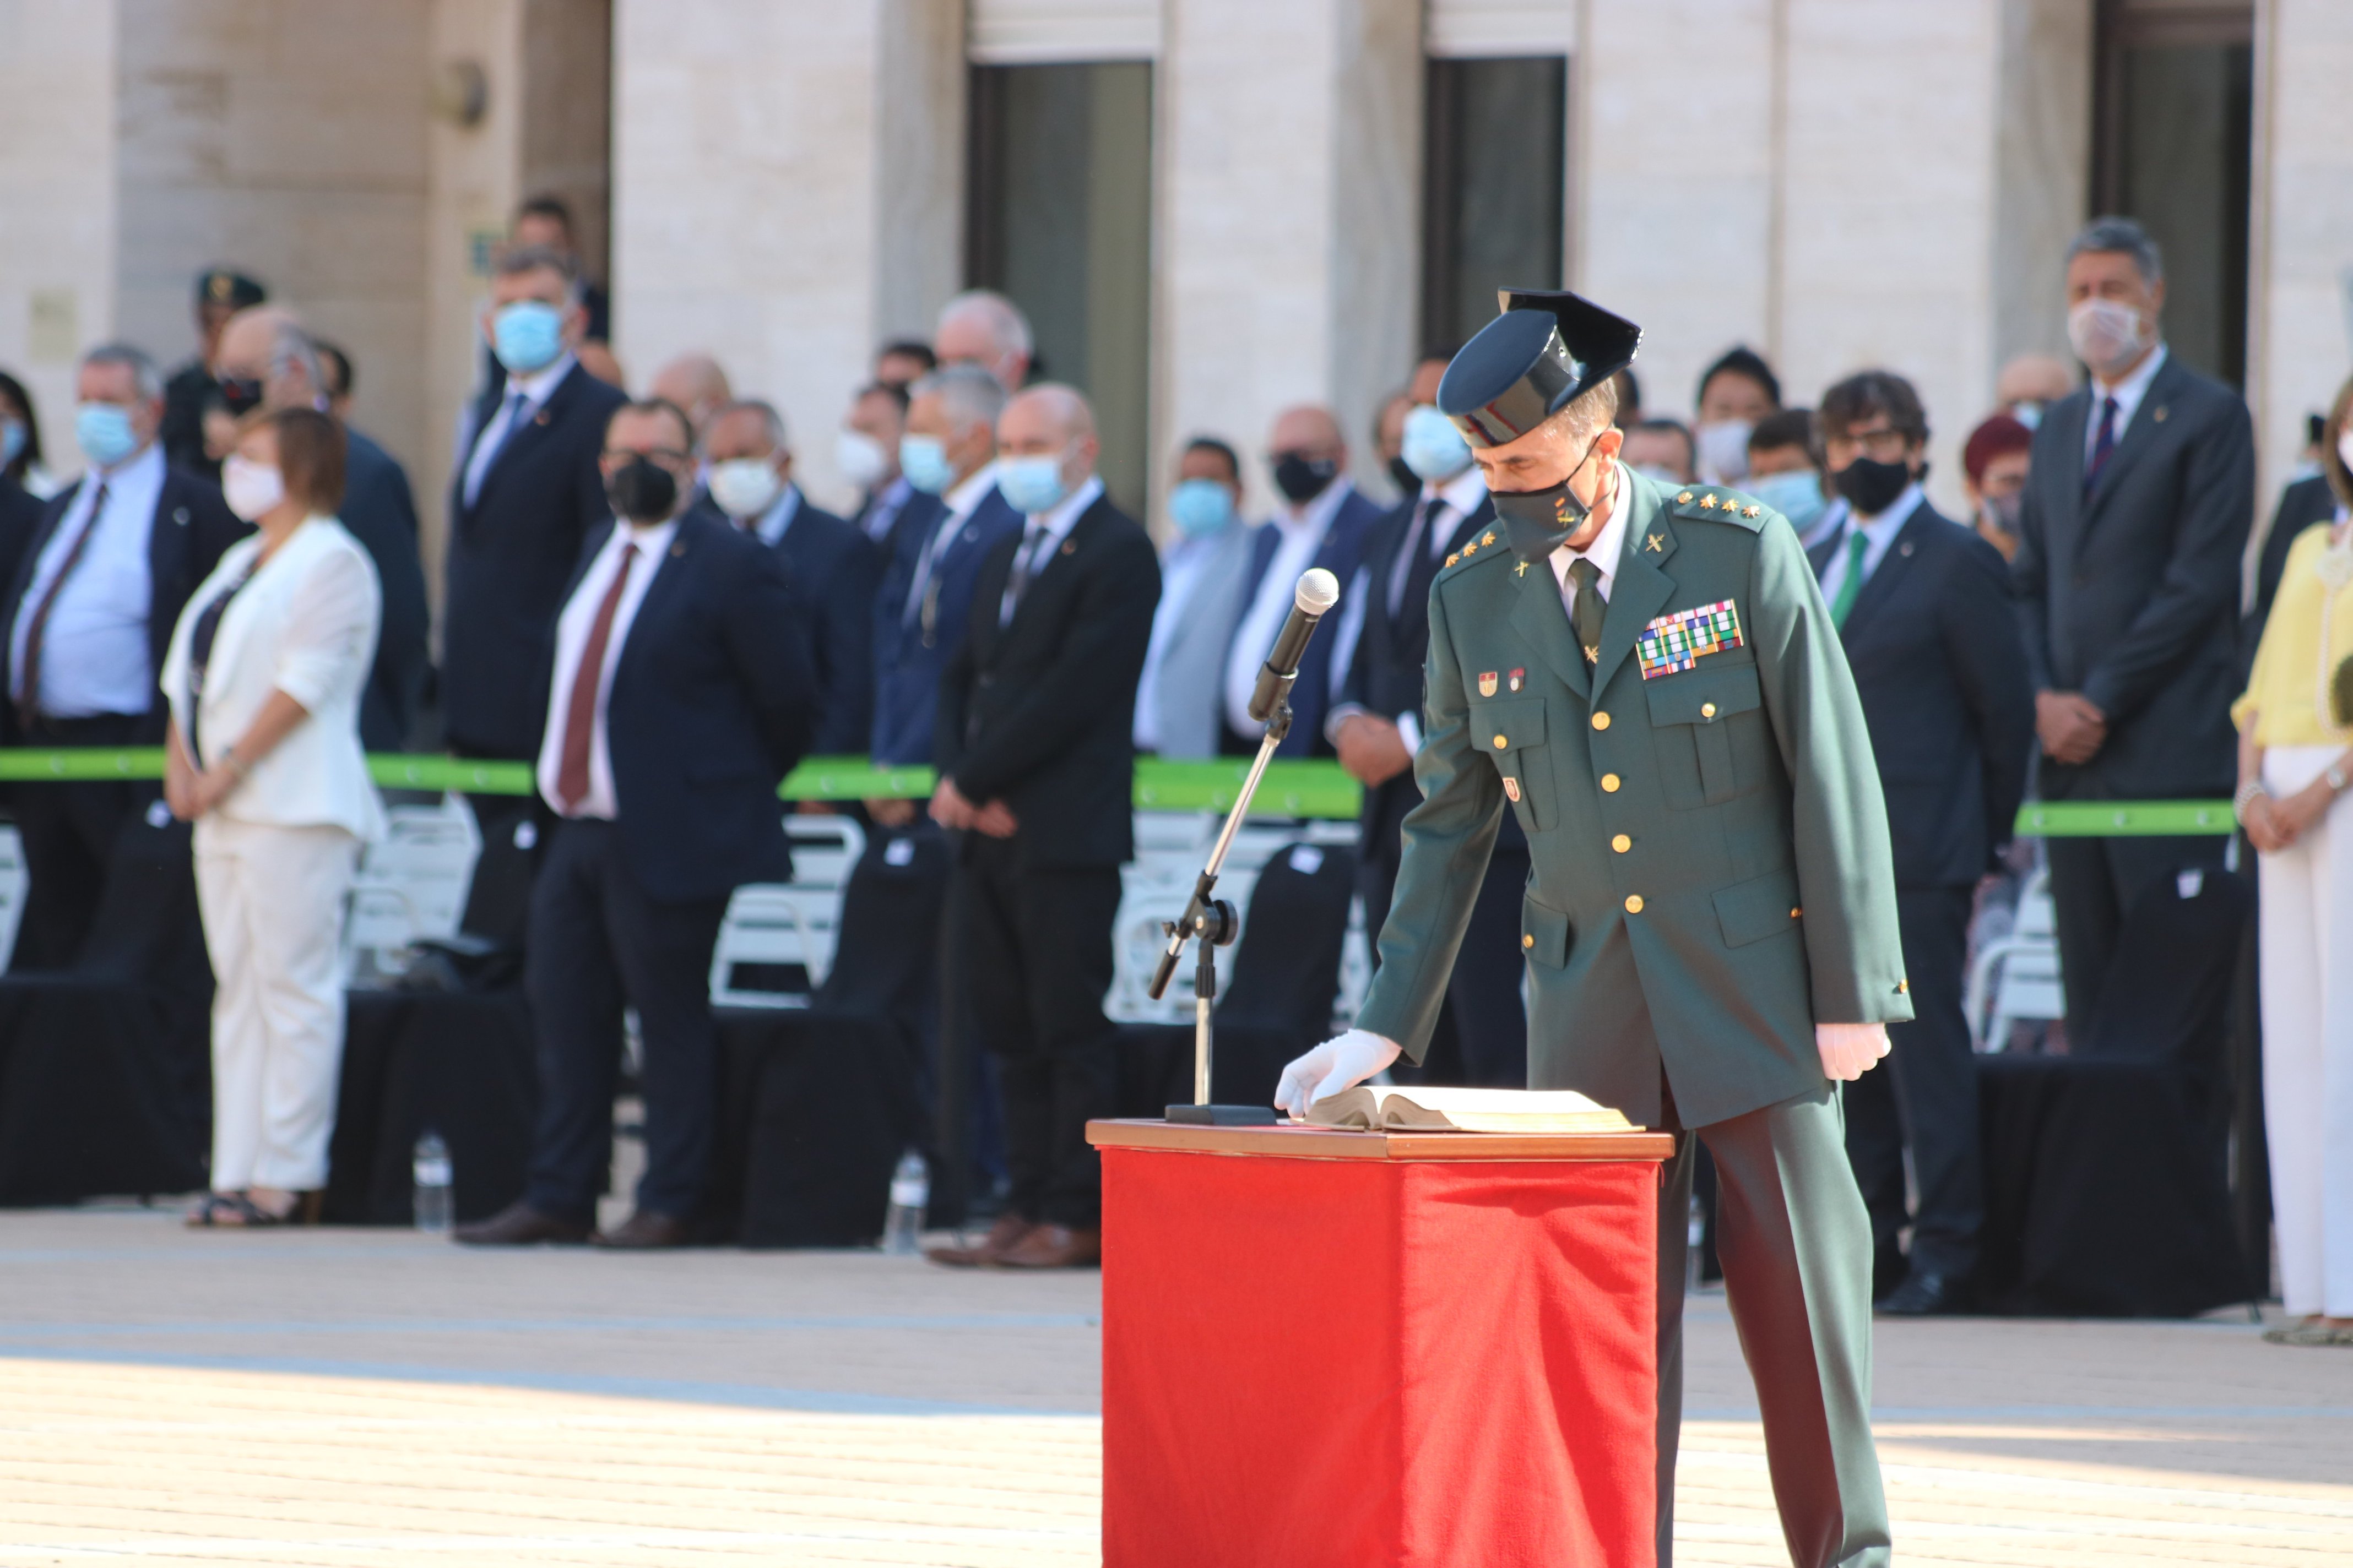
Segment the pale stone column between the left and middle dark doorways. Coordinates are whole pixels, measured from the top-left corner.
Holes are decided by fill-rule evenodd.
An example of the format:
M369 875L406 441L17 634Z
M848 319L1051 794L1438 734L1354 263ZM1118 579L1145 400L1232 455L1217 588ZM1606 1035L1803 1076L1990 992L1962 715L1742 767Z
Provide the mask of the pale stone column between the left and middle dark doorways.
M1169 0L1155 75L1155 491L1214 433L1261 451L1327 402L1360 475L1414 357L1421 33L1414 0ZM1245 477L1264 512L1264 473ZM1158 496L1155 496L1158 503Z

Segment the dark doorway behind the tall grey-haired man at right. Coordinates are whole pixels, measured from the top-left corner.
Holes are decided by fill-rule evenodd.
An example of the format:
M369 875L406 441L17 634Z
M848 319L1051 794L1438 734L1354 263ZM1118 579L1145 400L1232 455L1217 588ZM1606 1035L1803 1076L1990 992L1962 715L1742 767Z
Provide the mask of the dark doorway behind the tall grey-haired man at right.
M2101 0L2092 207L2165 252L2165 341L2247 381L2254 7Z

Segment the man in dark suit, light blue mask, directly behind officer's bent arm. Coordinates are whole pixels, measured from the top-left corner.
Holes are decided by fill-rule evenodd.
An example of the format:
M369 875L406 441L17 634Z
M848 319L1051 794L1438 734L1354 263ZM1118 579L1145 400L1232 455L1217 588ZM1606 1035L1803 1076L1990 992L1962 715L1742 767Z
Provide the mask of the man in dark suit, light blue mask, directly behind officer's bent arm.
M1471 461L1471 444L1435 407L1438 381L1452 357L1452 350L1431 353L1414 369L1414 407L1405 416L1400 456L1419 475L1419 489L1379 522L1365 548L1365 569L1341 611L1341 628L1355 632L1353 658L1325 722L1339 764L1365 785L1360 891L1367 931L1388 919L1405 853L1405 813L1421 804L1414 752L1421 750L1431 583L1449 555L1494 527L1494 503ZM1447 983L1447 1006L1428 1056L1431 1081L1459 1077L1480 1088L1527 1088L1527 1011L1520 1006L1525 889L1527 832L1506 813Z

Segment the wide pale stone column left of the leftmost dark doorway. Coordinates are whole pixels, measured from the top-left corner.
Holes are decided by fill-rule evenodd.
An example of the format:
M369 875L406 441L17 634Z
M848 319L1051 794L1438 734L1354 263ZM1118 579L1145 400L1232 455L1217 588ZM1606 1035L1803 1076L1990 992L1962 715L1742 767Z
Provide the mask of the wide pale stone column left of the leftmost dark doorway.
M718 355L824 505L852 501L833 430L875 341L927 334L955 275L962 31L939 9L614 7L614 348L640 381Z

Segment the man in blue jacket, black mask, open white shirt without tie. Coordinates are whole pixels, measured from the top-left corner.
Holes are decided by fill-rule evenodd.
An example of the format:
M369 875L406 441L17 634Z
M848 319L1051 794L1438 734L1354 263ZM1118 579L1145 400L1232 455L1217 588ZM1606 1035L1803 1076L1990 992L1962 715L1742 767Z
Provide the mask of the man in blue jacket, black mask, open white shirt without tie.
M1249 576L1242 581L1242 618L1226 654L1226 729L1235 752L1259 750L1264 724L1249 717L1249 693L1259 684L1266 649L1292 614L1299 574L1322 567L1341 585L1355 578L1365 541L1381 522L1381 508L1348 480L1348 442L1329 409L1301 404L1275 416L1268 437L1275 489L1282 505L1252 536ZM1329 757L1325 715L1337 686L1332 663L1308 658L1292 684L1292 733L1278 757Z

